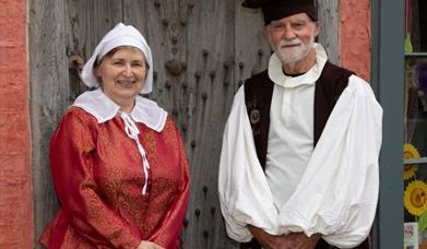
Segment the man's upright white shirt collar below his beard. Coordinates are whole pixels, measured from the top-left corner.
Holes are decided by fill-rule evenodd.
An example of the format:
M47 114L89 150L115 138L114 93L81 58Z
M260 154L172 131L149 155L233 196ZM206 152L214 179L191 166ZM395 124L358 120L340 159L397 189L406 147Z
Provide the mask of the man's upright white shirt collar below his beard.
M323 67L328 61L325 50L320 44L313 44L316 52L316 64L308 70L306 73L299 76L288 76L283 72L282 61L278 56L274 52L270 57L269 61L269 78L275 84L284 87L296 87L303 84L315 84L322 73Z

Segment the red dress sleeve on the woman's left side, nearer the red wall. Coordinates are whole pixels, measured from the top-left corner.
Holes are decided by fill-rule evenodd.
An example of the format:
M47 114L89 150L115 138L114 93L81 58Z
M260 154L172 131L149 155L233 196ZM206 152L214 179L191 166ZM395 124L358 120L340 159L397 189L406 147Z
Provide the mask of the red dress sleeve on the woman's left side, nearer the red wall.
M137 248L138 228L124 223L102 199L93 177L97 122L80 109L70 109L50 142L55 189L68 222L94 245Z

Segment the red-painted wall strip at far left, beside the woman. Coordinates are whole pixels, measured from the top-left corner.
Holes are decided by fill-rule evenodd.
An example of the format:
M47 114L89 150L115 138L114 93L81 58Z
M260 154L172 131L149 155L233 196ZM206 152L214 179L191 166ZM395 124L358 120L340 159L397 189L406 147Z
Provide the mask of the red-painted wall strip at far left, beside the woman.
M0 248L34 248L25 3L0 0Z

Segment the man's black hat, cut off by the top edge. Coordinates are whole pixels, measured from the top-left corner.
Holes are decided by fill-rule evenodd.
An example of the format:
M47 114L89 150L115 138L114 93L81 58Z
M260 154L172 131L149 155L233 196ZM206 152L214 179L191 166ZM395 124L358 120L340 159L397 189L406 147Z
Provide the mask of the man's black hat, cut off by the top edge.
M265 25L297 13L306 13L312 21L318 20L315 0L245 0L242 7L261 8Z

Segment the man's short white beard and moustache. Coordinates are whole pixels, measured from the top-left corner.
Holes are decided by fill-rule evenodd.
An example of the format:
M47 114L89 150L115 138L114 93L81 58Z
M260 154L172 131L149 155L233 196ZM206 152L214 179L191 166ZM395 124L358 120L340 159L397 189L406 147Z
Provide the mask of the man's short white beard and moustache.
M269 36L270 37L270 36ZM311 32L311 37L308 44L304 44L299 38L292 40L281 39L278 47L273 47L274 52L278 56L283 64L292 64L304 59L311 50L315 43L315 28ZM270 44L272 45L271 40ZM283 46L299 45L292 48L285 48Z

